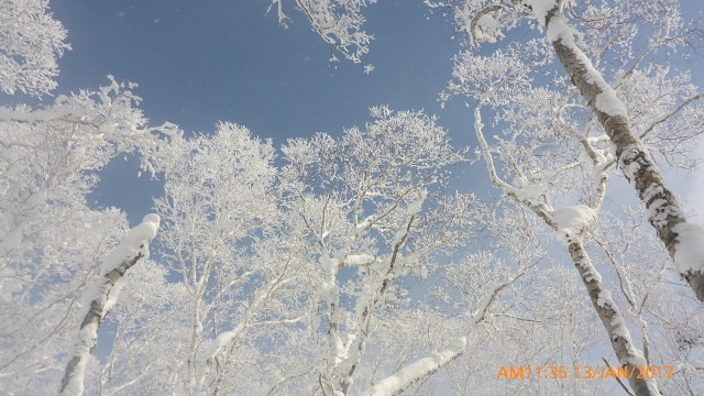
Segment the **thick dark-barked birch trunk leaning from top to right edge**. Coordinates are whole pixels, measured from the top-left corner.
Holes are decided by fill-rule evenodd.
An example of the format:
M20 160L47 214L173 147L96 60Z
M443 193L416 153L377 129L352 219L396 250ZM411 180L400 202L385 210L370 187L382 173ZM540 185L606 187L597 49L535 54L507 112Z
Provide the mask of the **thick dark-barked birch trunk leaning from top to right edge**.
M691 249L701 250L704 245L704 230L686 222L648 148L632 133L626 107L576 45L573 31L560 13L560 7L556 7L546 16L548 40L572 82L616 145L618 166L646 205L648 220L658 231L678 271L690 284L696 298L704 301L704 256L690 253ZM682 235L683 232L688 235ZM683 240L698 246L686 248L688 252L683 252ZM679 256L678 250L682 251Z

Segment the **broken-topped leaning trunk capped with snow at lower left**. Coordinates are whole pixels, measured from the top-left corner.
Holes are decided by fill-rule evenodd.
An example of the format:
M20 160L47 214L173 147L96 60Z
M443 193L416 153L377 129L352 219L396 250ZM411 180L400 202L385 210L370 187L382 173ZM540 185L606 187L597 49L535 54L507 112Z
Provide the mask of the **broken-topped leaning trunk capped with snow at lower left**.
M148 256L148 243L156 235L160 218L147 215L142 223L131 229L102 263L103 276L87 292L88 312L80 323L78 340L72 359L66 364L59 395L84 394L84 380L88 355L96 348L98 330L106 315L114 305L120 292L119 282L140 260Z

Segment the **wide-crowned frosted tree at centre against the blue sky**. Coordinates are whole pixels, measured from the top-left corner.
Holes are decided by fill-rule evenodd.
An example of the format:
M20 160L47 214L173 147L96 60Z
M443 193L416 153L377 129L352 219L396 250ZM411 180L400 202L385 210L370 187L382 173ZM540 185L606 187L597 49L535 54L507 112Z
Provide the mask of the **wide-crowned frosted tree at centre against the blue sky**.
M359 392L354 378L377 327L405 305L400 279L426 277L433 257L466 243L481 218L473 196L438 196L448 167L464 157L433 118L385 107L372 114L339 139L284 147L284 183L297 191L290 199L321 279L311 285L311 394Z

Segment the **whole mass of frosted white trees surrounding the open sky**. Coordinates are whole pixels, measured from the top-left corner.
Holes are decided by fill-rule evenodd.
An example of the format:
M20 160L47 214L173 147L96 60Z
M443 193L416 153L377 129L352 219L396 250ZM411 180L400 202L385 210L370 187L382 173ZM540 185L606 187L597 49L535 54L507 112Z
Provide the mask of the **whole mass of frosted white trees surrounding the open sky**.
M375 3L268 11L370 74ZM54 94L67 30L47 1L2 2L0 388L704 389L704 228L671 182L702 161L702 88L681 61L697 25L675 0L425 4L460 37L433 77L462 131L370 103L356 127L275 143L229 120L153 124L112 76ZM128 155L158 191L131 228L90 199Z

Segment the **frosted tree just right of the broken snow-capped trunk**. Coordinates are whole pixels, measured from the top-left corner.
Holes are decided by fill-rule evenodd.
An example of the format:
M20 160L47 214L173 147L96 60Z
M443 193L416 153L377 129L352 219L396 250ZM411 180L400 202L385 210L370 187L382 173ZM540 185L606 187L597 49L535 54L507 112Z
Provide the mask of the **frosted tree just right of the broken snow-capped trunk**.
M165 195L156 202L161 253L189 294L177 309L190 316L175 385L196 395L213 386L213 375L228 375L228 355L266 317L287 277L285 266L246 254L245 240L277 218L274 151L245 128L220 123L212 136L173 139L167 153Z

